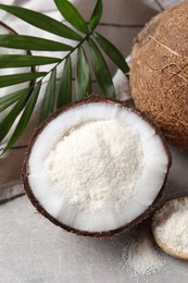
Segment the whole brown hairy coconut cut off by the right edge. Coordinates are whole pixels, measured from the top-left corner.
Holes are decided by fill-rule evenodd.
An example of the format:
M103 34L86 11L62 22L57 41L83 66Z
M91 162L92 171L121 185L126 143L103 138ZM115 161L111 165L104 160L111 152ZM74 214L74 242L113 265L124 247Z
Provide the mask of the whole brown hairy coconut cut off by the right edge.
M153 17L136 37L130 88L138 110L188 149L188 2Z

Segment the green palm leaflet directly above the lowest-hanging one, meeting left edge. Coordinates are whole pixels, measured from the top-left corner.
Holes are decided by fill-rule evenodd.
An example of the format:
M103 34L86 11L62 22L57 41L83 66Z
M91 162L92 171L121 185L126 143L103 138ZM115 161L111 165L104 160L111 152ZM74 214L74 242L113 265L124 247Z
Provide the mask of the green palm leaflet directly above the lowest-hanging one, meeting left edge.
M30 89L28 89L28 93L25 97L22 97L17 103L13 107L13 109L8 113L8 115L1 121L0 123L0 142L4 139L9 131L11 130L15 119L18 116L18 114L24 109L27 99L29 97Z

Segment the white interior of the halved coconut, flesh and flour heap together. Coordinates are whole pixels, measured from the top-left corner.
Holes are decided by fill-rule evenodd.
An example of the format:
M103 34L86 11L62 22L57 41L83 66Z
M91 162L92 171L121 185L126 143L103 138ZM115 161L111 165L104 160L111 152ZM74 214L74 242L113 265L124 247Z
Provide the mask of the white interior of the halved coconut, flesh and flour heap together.
M155 130L110 102L62 112L37 136L29 187L60 223L87 232L116 230L156 198L168 157Z

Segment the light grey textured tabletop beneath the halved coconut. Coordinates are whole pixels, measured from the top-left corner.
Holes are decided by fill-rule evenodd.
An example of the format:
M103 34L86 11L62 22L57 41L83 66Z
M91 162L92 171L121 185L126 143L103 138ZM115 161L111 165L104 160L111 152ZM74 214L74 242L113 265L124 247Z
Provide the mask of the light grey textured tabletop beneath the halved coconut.
M166 199L188 194L188 152L172 151ZM17 198L0 206L0 283L188 282L188 262L168 256L164 270L131 279L122 258L126 237L73 235L37 213L26 196Z

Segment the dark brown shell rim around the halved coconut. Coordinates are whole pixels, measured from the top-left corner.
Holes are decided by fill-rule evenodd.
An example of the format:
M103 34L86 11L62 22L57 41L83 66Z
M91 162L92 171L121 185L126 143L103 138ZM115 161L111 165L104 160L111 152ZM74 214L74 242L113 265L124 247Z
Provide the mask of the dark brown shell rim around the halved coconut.
M163 185L156 196L156 198L154 199L153 204L148 207L148 209L141 214L139 216L137 219L135 219L134 221L129 222L128 224L124 225L124 226L121 226L116 230L112 230L112 231L101 231L101 232L87 232L87 231L79 231L79 230L76 230L74 227L71 227L68 225L65 225L61 222L59 222L55 218L53 218L52 216L50 216L43 208L42 206L40 205L40 202L36 199L35 195L33 194L33 190L32 190L32 187L29 185L29 182L28 182L28 175L29 175L29 167L28 167L28 160L29 160L29 156L30 156L30 152L32 152L32 149L33 149L33 146L36 142L36 139L38 138L38 136L40 135L40 133L43 131L43 128L53 120L55 119L58 115L73 109L73 108L76 108L78 106L82 106L84 103L93 103L93 102L109 102L109 103L113 103L113 104L116 104L116 106L120 106L124 109L130 109L128 108L124 102L122 101L118 101L118 100L115 100L115 99L109 99L109 98L104 98L104 97L100 97L100 96L91 96L89 98L85 98L85 99L82 99L79 101L76 101L76 102L73 102L73 103L70 103L68 106L65 106L61 109L59 109L54 114L52 114L48 120L45 121L45 123L42 123L35 132L32 140L30 140L30 144L26 150L26 153L25 153L25 160L24 160L24 164L23 164L23 171L22 171L22 181L23 181L23 185L24 185L24 188L25 188L25 192L28 196L28 198L30 199L32 204L36 207L36 209L46 218L48 218L52 223L54 223L55 225L58 226L61 226L62 229L68 231L68 232L72 232L72 233L75 233L77 235L84 235L84 236L95 236L95 237L111 237L120 232L123 232L124 230L126 229L129 229L131 226L135 226L137 224L139 224L142 220L147 219L149 217L149 214L155 209L156 205L159 204L159 200L161 200L162 198L162 195L163 195L163 190L165 188L165 184L166 184L166 180L167 180L167 175L168 175L168 171L170 171L170 167L171 167L171 163L172 163L172 158L171 158L171 153L168 151L168 148L166 147L166 144L165 144L165 140L161 134L160 131L156 131L156 134L161 137L161 142L162 142L162 145L165 149L165 152L166 152L166 156L167 156L167 159L168 159L168 167L167 167L167 170L166 170L166 175L165 175L165 179L164 179L164 182L163 182ZM136 112L141 119L143 119L146 122L148 122L148 120L146 120L139 112L135 111L135 110L131 110L134 112ZM149 123L149 122L148 122ZM149 123L151 125L151 123Z

